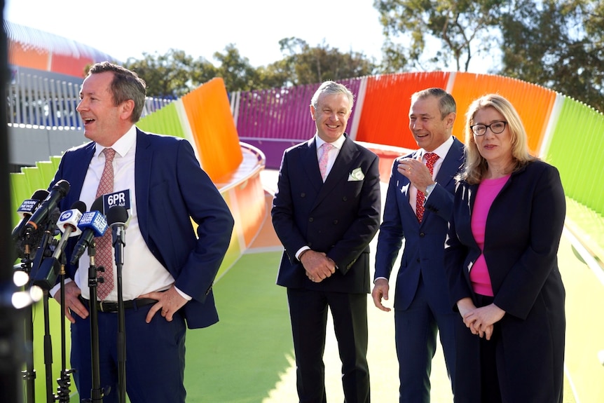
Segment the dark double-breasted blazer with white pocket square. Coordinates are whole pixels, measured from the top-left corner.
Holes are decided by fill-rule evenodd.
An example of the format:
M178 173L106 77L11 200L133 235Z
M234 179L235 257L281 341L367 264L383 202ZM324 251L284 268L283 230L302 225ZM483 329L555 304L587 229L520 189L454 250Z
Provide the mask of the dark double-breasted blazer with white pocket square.
M285 247L278 285L369 292L369 243L380 222L378 166L375 153L347 137L323 183L315 137L284 152L271 212ZM359 168L363 177L353 180L350 176ZM336 262L336 273L322 282L308 280L296 259L296 252L305 245Z

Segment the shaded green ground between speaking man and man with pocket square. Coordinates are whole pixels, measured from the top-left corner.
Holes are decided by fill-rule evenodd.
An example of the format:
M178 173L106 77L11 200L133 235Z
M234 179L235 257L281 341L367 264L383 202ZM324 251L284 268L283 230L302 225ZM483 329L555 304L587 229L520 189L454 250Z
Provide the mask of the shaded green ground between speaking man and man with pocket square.
M245 254L214 287L220 321L186 333L188 403L262 402L293 357L281 252Z

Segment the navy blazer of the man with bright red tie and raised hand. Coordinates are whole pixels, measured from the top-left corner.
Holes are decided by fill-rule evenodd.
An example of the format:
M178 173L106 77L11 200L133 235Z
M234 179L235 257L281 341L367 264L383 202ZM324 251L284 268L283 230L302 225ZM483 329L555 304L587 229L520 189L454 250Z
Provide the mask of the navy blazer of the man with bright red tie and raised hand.
M402 158L418 158L418 153L419 151L414 151ZM444 274L444 242L453 208L454 177L462 168L463 156L463 144L453 137L451 149L435 178L437 185L426 200L421 224L409 204L411 182L398 172L399 160L394 160L386 194L384 219L378 235L374 279L390 278L392 266L404 238L405 247L394 293L395 309L409 308L416 295L421 273L428 292L434 296L434 308L441 312L451 310Z

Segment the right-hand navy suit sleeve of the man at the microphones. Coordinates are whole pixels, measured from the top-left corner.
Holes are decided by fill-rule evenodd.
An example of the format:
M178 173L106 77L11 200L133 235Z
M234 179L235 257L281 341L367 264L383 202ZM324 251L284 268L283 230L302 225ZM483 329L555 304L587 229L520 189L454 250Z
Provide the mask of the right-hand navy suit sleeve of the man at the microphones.
M188 216L197 224L198 239L176 278L182 292L204 301L228 245L234 220L210 177L200 168L191 144L177 142L177 182ZM171 195L178 197L178 195ZM188 216L178 219L188 220ZM170 237L170 234L165 234Z

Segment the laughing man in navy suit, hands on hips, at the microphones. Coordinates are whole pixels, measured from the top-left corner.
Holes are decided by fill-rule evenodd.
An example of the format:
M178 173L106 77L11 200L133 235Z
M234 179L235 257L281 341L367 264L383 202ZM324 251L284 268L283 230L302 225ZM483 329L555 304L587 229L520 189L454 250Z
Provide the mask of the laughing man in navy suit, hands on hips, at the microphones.
M231 240L233 217L200 168L191 144L135 126L144 107L142 78L109 62L95 64L83 81L80 98L77 111L84 135L92 142L62 157L53 183L66 179L71 190L60 208L67 210L76 200L90 207L107 166L113 168L114 191L130 193L123 250L125 387L132 403L184 402L185 329L218 321L212 282ZM115 151L107 165L104 149ZM191 219L198 224L197 236ZM75 242L67 246L68 261ZM105 276L112 270L115 279L115 262L111 266L105 268ZM90 398L92 385L89 267L86 254L75 266L68 265L65 285L66 315L72 323L71 365L82 398ZM60 300L57 287L51 294ZM99 301L104 403L118 402L117 299L114 288Z

